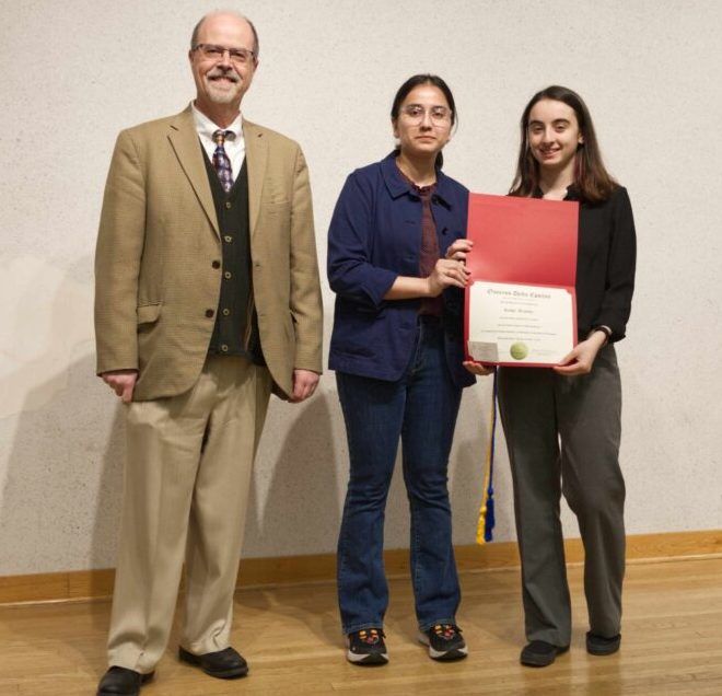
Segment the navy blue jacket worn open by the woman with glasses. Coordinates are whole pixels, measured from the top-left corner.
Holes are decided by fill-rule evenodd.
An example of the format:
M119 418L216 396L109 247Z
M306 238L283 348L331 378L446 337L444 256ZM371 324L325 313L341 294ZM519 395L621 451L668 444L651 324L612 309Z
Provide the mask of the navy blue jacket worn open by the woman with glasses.
M432 197L439 251L466 235L468 190L436 172ZM328 230L328 281L336 292L329 368L395 381L414 349L419 300L384 300L398 276L419 276L421 199L401 178L395 153L353 172L343 185ZM474 383L462 366L463 302L444 291L446 360L454 382Z

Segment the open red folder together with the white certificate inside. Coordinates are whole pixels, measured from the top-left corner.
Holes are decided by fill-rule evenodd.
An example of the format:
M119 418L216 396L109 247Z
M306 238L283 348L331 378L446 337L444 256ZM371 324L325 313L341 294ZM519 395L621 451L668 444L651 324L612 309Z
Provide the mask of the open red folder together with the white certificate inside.
M470 195L469 359L551 367L572 350L578 218L575 202Z

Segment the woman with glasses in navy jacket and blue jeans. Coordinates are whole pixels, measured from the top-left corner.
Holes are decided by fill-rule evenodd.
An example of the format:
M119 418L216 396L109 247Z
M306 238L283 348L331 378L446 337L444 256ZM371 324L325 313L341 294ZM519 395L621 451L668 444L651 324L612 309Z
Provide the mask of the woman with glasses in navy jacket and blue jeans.
M347 658L384 664L384 509L399 438L411 512L411 577L420 639L433 659L467 649L456 625L459 587L446 467L462 388L463 289L451 256L467 248L467 189L441 171L456 120L453 95L419 74L392 107L396 151L353 172L328 233L336 292L329 367L336 371L350 455L338 542Z

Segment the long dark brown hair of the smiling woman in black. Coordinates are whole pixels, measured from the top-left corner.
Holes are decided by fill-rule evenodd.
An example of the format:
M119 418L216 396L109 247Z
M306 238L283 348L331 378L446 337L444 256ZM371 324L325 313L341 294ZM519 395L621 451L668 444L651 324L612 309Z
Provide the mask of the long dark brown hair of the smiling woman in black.
M534 159L529 148L528 121L532 108L542 100L563 102L574 109L579 131L583 140L577 148L574 159L574 185L583 200L592 204L607 200L618 184L609 175L602 161L602 153L599 152L590 111L577 92L558 84L552 84L537 92L522 114L519 161L509 194L511 196L531 196L539 185L539 163Z

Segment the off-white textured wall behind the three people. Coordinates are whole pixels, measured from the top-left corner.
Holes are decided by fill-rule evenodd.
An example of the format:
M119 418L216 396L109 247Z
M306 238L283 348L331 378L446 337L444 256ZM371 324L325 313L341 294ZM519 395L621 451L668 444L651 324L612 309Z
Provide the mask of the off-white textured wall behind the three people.
M117 131L193 95L190 28L214 3L2 0L0 42L0 575L112 566L123 422L93 375L92 255ZM446 171L503 193L516 120L551 82L587 100L639 233L638 291L619 346L631 533L722 526L722 4L709 1L252 1L261 66L248 118L307 154L319 262L346 174L392 147L387 112L434 71L461 125ZM333 297L324 286L327 338ZM474 540L489 383L464 397L451 464L457 543ZM499 440L498 538L513 538ZM244 553L330 552L347 474L333 374L275 401ZM577 530L564 513L569 534ZM389 547L406 545L394 483Z

